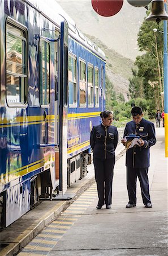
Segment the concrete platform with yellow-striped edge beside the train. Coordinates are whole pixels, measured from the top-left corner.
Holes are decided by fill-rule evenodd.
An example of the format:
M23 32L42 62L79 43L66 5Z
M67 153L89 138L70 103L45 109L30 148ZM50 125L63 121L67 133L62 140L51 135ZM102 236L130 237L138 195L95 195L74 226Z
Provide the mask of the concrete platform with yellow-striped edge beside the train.
M167 255L167 159L164 130L156 132L157 143L150 149L149 168L153 208L144 208L139 182L136 207L125 208L125 155L120 154L123 146L119 145L111 209L96 209L94 169L88 166L88 176L68 188L68 193L76 194L74 199L43 201L3 230L0 236L4 247L1 246L0 254L15 255L20 251L19 256Z

